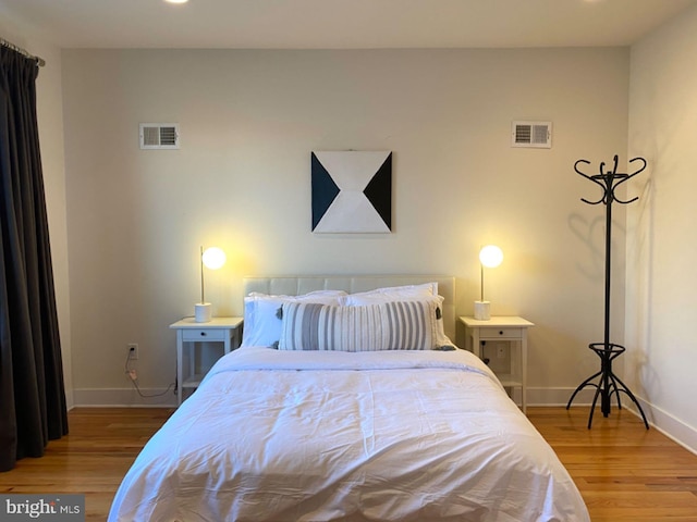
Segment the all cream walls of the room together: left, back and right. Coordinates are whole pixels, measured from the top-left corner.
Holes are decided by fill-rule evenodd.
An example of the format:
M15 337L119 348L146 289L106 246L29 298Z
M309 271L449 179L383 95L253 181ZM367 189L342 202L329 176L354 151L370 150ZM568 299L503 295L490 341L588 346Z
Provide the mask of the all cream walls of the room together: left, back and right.
M506 254L487 277L494 313L537 323L530 399L564 402L602 337L602 211L580 203L594 192L572 164L622 153L628 121L628 156L649 169L627 190L640 199L626 209L624 376L697 448L697 8L632 48L631 75L622 49L61 53L1 14L3 37L47 61L38 117L69 403L73 387L80 403L140 401L122 371L129 341L143 386L172 381L167 325L197 299L200 244L231 257L209 277L218 313L241 312L243 274L430 272L457 276L465 314L488 241ZM511 149L512 119L552 120L553 149ZM182 150L139 151L145 121L181 123ZM309 151L350 148L394 151L391 235L309 233ZM624 229L620 211L613 339Z

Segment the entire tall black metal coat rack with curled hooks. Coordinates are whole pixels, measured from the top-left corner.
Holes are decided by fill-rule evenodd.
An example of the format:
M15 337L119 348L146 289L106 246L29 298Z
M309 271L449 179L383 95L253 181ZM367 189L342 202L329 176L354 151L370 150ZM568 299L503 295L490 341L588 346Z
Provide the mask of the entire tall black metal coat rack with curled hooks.
M596 405L598 402L598 397L600 397L600 409L602 411L603 417L608 417L610 414L610 400L612 395L614 394L617 399L617 408L622 409L622 402L620 401L620 391L625 394L636 405L639 413L641 414L641 419L644 419L644 424L646 428L649 428L649 423L646 420L646 415L644 414L644 410L641 410L641 406L629 388L617 377L612 371L612 361L624 353L624 346L616 345L614 343L610 343L610 260L611 260L611 238L612 238L612 203L617 202L621 204L628 204L633 201L639 199L638 197L632 198L627 201L619 199L615 195L616 188L623 183L629 181L638 173L646 169L646 160L644 158L634 158L629 160L629 164L634 162L640 162L641 166L637 169L632 174L622 174L617 173L617 157L614 157L614 167L612 171L603 172L604 162L600 163L599 174L594 176L588 176L584 174L579 170L580 164L589 165L590 162L587 160L578 160L574 163L574 171L577 174L582 175L586 179L590 179L592 183L598 185L602 189L602 197L598 201L588 201L587 199L580 198L584 203L588 204L604 204L606 206L606 324L604 324L604 339L602 343L591 343L588 345L592 351L595 351L600 358L600 371L592 374L586 381L580 383L580 385L574 390L571 398L568 399L568 403L566 405L566 409L571 407L571 403L576 397L576 394L580 391L586 386L594 386L596 388L596 395L592 398L592 406L590 407L590 415L588 417L588 428L590 430L590 425L592 424L592 413L596 409ZM594 381L598 378L598 382Z

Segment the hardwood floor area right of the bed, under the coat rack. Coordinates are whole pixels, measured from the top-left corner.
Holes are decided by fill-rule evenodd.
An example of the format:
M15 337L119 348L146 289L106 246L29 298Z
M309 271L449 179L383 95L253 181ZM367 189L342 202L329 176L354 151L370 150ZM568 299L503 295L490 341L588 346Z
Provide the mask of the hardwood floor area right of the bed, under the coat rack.
M528 408L576 482L592 522L696 522L697 456L627 410Z

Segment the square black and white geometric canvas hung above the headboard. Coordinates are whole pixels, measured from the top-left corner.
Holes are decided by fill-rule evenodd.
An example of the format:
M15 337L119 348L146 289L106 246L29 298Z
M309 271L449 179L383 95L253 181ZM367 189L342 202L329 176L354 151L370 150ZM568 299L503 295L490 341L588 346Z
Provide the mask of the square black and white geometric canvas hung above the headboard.
M392 152L311 153L313 232L392 231Z

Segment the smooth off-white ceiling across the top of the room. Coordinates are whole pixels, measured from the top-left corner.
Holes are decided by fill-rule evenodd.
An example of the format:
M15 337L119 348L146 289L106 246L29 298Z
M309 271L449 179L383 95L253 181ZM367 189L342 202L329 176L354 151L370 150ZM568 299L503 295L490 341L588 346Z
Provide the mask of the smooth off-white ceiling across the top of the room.
M629 46L696 2L0 0L0 18L61 48L597 47Z

